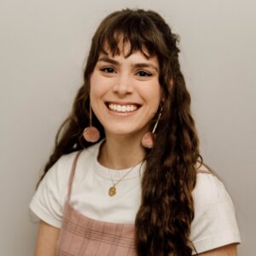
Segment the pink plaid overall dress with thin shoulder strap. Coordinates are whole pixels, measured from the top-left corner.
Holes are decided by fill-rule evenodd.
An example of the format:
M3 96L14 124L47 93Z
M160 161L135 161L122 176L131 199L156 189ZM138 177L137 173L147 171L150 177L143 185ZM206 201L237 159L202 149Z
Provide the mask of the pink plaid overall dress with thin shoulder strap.
M115 224L91 219L71 206L73 177L80 153L81 151L73 160L69 177L57 255L136 256L134 224Z

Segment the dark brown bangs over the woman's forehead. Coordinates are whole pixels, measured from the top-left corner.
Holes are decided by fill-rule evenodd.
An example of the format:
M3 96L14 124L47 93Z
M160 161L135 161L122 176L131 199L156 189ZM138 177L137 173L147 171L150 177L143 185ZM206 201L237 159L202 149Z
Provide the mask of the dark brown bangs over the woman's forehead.
M114 16L113 19L108 17L106 23L98 38L98 54L123 54L128 57L141 51L147 58L160 55L164 38L148 17L131 13Z

